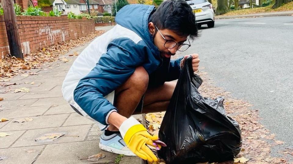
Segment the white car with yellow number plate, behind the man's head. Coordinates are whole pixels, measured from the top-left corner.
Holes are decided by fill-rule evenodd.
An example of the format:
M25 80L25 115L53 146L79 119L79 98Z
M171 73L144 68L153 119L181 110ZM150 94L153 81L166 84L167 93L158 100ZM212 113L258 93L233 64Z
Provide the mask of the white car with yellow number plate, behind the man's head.
M207 0L186 0L195 14L197 27L207 24L209 28L215 26L215 14L213 6Z

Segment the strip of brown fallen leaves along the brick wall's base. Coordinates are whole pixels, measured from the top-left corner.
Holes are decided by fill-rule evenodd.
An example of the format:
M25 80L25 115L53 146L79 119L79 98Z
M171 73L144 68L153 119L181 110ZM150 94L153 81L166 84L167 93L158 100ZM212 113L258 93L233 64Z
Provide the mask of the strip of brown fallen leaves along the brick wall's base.
M72 48L81 46L91 41L96 36L102 35L105 31L95 31L87 36L78 39L71 39L67 42L61 42L38 50L19 59L14 56L7 55L4 59L0 59L0 79L10 78L26 70L41 68L44 63L59 60L59 56L69 52Z

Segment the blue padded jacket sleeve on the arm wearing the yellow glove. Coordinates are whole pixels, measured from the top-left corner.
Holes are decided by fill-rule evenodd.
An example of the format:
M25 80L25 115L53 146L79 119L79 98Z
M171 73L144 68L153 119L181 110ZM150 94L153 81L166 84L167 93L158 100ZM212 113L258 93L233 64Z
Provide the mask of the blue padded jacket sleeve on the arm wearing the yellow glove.
M108 45L107 53L104 53L90 73L79 81L74 90L74 101L91 118L108 125L109 112L118 109L104 96L123 84L143 61L141 49L132 40L113 40Z

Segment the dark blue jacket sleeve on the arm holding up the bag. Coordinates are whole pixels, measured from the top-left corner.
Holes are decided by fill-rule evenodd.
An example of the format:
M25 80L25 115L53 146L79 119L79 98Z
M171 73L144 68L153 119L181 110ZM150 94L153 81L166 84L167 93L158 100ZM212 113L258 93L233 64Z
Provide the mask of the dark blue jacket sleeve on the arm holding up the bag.
M182 59L183 57L176 60L170 60L166 81L173 81L179 78L181 72L180 62Z

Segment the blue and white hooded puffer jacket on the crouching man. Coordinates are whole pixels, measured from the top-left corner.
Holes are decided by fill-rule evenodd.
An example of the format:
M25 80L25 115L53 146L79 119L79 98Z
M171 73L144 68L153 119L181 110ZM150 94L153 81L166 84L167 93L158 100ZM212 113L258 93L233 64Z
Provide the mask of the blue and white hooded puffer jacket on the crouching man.
M164 72L160 71L163 60L148 30L154 10L153 5L123 7L116 15L117 25L81 52L63 81L65 100L102 130L109 124L110 113L118 111L106 95L123 84L138 66L143 66L149 75ZM178 79L180 60L170 61L165 81Z

